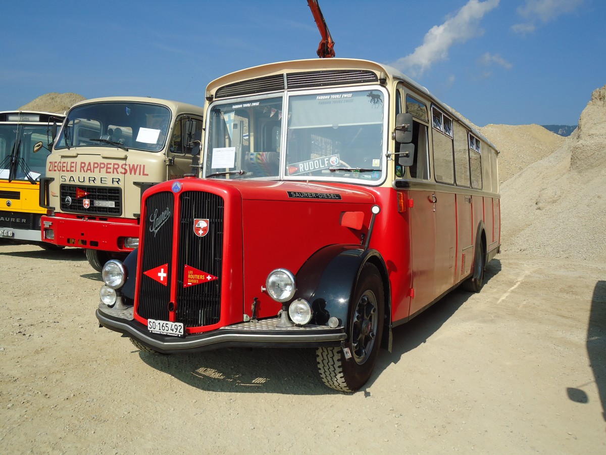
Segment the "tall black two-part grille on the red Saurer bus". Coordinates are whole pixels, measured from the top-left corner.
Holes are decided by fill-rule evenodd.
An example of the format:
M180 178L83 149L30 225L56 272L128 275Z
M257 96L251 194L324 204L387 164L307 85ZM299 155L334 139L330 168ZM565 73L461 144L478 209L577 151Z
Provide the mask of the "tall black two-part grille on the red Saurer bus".
M137 312L144 318L168 320L168 303L174 288L177 322L184 323L186 327L216 324L221 318L224 201L220 196L206 192L179 194L178 212L181 215L177 238L173 238L173 201L170 192L157 193L145 200L147 219L142 220L144 251L141 252L141 273L164 264L168 265L170 272L168 286L139 274L141 289ZM153 232L150 216L164 211L170 212L170 220ZM202 237L194 230L196 220L204 220L208 224L207 234ZM173 257L177 260L176 277L172 274ZM185 287L186 266L218 279Z

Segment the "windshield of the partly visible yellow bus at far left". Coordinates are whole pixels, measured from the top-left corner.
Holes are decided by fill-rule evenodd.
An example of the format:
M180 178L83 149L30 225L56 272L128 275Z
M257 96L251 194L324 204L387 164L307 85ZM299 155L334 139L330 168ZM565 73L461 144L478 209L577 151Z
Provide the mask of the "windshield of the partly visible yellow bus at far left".
M38 180L44 176L48 156L49 128L46 124L0 124L0 178L9 178L13 163L15 180ZM33 152L41 141L46 149Z

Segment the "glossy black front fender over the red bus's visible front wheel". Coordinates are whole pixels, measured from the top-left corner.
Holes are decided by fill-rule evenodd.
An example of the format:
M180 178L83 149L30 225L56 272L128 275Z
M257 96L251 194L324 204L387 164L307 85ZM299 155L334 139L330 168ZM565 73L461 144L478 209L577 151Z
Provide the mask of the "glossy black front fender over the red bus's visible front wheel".
M348 322L351 296L367 261L387 275L381 254L360 245L325 246L305 261L296 274L294 298L304 298L310 303L315 314L313 323L324 325L333 316L339 319L339 325Z

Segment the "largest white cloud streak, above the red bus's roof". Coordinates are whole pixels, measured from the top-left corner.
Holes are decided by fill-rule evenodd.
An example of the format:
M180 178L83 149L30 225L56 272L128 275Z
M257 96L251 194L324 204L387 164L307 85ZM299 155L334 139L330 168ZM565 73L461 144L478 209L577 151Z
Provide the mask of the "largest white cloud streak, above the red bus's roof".
M434 25L425 34L423 44L415 52L391 62L391 66L413 77L421 76L434 63L448 58L448 50L454 45L468 41L483 32L479 21L490 10L499 5L499 0L469 0L454 16L444 24Z

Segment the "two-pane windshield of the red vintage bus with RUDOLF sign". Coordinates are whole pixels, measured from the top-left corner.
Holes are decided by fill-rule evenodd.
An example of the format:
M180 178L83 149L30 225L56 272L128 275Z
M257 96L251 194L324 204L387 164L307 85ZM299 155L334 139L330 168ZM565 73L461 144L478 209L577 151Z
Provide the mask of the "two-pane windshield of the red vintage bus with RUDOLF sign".
M387 151L384 101L378 88L211 105L205 175L378 182Z

